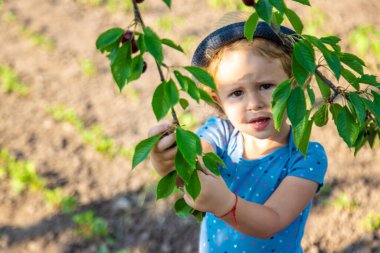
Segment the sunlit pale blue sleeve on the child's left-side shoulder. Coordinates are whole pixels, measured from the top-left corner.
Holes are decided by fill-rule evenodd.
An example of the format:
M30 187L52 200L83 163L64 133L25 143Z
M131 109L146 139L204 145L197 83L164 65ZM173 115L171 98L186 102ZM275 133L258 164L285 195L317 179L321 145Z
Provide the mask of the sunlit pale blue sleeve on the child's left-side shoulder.
M222 156L226 150L231 129L232 126L227 120L213 116L197 130L196 134L210 143L217 155Z

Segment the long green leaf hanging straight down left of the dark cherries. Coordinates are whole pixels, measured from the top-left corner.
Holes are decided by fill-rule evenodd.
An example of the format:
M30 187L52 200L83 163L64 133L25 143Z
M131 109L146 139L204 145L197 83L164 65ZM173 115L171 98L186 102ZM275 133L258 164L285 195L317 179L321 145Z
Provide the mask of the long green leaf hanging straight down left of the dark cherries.
M122 91L125 81L131 74L131 42L127 41L117 50L115 60L111 64L111 72L119 90Z

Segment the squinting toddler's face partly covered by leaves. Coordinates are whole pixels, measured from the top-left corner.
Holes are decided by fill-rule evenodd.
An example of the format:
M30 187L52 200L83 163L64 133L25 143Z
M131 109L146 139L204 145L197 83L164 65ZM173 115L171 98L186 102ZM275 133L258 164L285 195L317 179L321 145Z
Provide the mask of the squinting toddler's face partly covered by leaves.
M245 49L226 51L215 73L217 100L243 135L273 138L278 132L271 111L272 92L288 78L279 59Z

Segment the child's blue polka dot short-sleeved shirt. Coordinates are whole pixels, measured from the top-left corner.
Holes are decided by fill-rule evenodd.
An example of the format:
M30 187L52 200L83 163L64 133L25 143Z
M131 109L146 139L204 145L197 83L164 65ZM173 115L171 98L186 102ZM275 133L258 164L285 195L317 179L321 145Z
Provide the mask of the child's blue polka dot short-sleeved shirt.
M254 160L243 158L243 136L228 120L209 118L197 135L210 143L225 168L220 168L227 186L240 198L264 204L286 176L295 176L323 185L327 169L324 148L310 142L306 157L297 150L293 136L289 144ZM312 202L285 229L270 239L258 239L238 232L223 220L207 213L201 224L200 253L300 253L304 227Z

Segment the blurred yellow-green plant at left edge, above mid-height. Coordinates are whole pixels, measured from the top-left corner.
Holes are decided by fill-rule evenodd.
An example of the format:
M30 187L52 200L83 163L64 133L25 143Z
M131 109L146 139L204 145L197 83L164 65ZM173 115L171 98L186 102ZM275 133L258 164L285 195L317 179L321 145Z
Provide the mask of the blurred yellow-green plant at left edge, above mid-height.
M16 93L25 96L29 93L29 88L20 81L16 72L8 67L0 65L0 90L5 93Z

